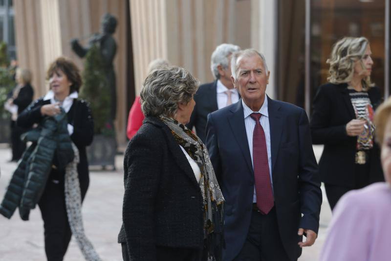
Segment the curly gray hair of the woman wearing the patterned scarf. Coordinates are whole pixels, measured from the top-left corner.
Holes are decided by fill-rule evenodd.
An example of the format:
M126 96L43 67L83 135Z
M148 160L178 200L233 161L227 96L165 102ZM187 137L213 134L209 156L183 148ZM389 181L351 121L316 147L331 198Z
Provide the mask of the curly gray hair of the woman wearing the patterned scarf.
M156 69L141 87L141 110L145 116L173 117L178 103L188 103L198 85L198 80L182 67Z

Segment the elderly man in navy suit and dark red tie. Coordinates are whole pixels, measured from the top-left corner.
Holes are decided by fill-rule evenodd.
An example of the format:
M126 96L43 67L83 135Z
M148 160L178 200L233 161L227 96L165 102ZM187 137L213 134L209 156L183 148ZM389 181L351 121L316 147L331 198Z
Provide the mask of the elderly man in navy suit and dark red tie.
M294 261L317 237L322 204L308 118L265 95L261 53L235 52L231 66L241 99L209 114L206 127L226 202L223 260Z

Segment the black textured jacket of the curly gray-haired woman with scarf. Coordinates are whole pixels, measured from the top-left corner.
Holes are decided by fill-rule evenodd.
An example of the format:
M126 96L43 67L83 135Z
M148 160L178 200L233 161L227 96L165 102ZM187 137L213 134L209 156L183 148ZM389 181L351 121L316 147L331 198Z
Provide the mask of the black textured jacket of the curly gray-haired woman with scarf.
M118 241L128 244L130 260L156 260L156 246L202 247L201 191L186 156L161 120L144 120L128 144L124 171Z

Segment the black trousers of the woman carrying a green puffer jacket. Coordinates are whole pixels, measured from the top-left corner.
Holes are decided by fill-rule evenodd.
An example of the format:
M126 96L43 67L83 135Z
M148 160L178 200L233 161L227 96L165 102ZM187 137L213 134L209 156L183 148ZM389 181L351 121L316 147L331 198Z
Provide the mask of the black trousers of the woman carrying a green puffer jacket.
M64 171L52 170L38 203L43 219L45 253L48 261L64 259L72 236L65 208L64 174ZM56 179L53 180L53 177ZM81 185L81 188L84 188L81 191L84 199L87 186Z

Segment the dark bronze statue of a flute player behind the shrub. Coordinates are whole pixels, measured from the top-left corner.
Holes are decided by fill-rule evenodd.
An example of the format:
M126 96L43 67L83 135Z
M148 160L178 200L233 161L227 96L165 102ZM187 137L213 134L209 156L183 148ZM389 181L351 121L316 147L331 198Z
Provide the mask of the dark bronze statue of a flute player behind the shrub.
M117 92L115 84L115 72L113 67L113 59L117 51L117 44L112 36L115 32L117 26L117 19L106 13L102 17L101 21L101 33L95 33L89 39L88 47L83 47L79 44L78 39L73 39L71 41L72 50L81 58L86 56L89 48L98 44L102 53L104 71L106 71L106 77L109 84L110 95L111 95L111 110L110 118L111 120L115 119L116 108L117 108Z

